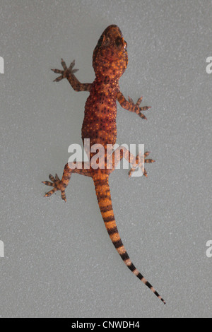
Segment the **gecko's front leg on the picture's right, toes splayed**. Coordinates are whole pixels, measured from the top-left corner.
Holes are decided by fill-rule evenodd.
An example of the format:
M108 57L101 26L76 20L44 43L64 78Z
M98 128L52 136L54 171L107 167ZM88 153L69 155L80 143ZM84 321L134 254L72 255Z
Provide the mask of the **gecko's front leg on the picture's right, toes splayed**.
M119 104L126 109L129 112L134 112L136 114L139 115L139 117L141 117L142 119L146 119L145 115L143 113L141 113L142 111L146 111L147 109L150 109L151 106L143 106L143 107L139 107L139 105L142 102L143 97L140 97L136 104L134 104L134 101L131 99L131 97L129 97L129 100L126 100L124 95L121 93L121 91L119 90L117 93L117 100L119 102Z

